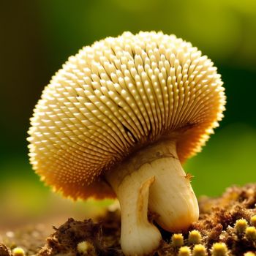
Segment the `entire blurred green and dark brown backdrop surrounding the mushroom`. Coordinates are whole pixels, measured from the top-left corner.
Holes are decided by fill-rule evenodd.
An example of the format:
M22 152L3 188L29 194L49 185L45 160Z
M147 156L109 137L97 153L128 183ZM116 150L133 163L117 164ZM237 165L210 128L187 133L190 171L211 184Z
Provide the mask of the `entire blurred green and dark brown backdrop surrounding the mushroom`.
M123 31L176 34L222 74L227 110L185 170L197 196L256 181L256 1L1 1L0 228L28 217L90 216L104 203L72 203L39 182L27 157L29 117L50 77L83 45Z

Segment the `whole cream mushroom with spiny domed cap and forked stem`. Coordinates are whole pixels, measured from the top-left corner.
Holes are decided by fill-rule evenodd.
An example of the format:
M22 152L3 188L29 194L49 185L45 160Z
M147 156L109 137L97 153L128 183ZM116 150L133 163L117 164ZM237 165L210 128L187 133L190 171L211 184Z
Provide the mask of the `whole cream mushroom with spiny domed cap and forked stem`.
M42 92L29 129L30 162L73 199L118 197L125 255L147 255L187 230L198 205L181 166L225 109L213 62L162 32L124 32L69 57Z

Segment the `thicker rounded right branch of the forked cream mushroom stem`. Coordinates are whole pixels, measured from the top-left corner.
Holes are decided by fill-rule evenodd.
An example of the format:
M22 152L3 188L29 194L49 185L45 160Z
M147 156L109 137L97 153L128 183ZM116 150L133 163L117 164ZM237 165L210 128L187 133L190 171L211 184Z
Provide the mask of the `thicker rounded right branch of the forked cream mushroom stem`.
M157 213L156 222L171 232L187 230L199 217L197 198L176 154L175 144L165 148L172 157L151 162L150 169L157 171L150 188L148 208ZM162 149L163 150L163 149Z

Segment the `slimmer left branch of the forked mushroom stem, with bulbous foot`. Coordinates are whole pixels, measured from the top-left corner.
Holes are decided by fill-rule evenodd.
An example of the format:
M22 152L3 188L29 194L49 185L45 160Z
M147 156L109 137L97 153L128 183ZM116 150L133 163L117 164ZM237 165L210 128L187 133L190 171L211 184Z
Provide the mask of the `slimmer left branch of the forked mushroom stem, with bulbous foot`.
M139 176L137 172L126 176L117 190L124 255L148 255L162 239L157 227L148 222L148 189L155 178L152 176L141 183Z

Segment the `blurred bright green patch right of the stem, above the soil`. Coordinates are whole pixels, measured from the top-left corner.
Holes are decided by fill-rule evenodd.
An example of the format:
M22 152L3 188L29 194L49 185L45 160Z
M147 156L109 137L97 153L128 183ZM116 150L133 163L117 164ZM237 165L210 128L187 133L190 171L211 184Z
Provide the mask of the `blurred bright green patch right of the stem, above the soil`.
M192 173L197 196L217 196L231 185L256 181L256 129L232 124L212 135L184 169Z

